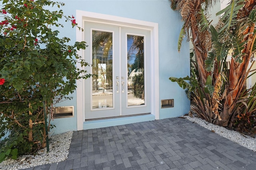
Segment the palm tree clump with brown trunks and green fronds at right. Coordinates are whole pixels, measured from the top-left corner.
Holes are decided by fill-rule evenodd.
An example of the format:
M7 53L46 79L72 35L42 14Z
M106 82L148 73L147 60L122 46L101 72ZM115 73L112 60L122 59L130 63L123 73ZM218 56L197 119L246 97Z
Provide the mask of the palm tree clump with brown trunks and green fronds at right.
M184 21L178 49L183 36L191 33L198 76L193 74L194 77L190 78L170 79L182 87L189 87L192 111L209 122L232 127L234 119L240 114L237 105L245 94L246 78L250 71L248 65L256 49L256 3L255 0L230 0L227 8L217 13L223 15L214 28L207 20L207 11L215 2L171 0L172 9L180 10ZM232 51L229 69L226 65L228 51Z

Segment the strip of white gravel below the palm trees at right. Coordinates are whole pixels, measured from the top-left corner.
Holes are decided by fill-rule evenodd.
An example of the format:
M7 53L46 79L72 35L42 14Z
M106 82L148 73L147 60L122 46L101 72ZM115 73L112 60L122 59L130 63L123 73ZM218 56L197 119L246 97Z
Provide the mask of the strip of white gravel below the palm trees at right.
M189 121L197 123L198 125L204 128L212 130L213 132L219 134L220 136L228 138L229 140L232 140L233 142L236 142L256 152L256 138L252 138L251 136L243 135L240 132L237 132L234 130L228 130L224 127L214 125L198 117L190 117L190 116L184 116L184 117Z

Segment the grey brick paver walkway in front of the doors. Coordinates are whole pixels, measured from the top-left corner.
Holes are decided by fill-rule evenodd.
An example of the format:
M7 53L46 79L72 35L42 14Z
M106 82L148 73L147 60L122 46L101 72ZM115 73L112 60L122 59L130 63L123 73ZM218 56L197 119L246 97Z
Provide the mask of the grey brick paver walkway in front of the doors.
M256 152L172 118L76 131L66 161L28 170L256 170Z

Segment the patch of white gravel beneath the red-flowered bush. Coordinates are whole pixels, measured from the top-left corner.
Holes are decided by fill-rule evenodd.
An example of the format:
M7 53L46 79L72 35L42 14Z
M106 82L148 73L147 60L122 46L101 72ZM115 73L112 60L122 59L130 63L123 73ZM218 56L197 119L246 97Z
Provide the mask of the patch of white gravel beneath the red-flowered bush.
M23 155L17 160L7 159L0 163L0 170L18 170L31 168L34 166L61 162L68 158L73 131L62 134L56 134L49 139L49 152L47 148L39 150L34 155Z

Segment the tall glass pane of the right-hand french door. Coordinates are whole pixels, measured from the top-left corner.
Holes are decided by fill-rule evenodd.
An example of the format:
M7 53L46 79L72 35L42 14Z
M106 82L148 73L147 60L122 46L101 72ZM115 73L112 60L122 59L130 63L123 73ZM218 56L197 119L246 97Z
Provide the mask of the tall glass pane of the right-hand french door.
M145 105L144 36L127 35L128 106Z

